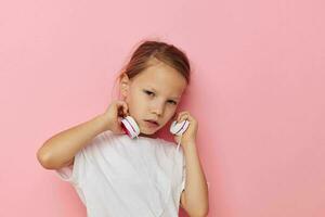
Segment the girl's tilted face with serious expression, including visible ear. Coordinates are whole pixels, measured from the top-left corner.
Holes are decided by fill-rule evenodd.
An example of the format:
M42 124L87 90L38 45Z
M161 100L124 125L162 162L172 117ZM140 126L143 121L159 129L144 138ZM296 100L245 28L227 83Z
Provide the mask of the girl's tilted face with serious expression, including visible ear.
M143 135L153 135L162 128L176 114L186 79L174 68L152 59L152 66L132 79L123 76L120 82L122 100L129 106L132 116ZM159 125L152 126L147 119Z

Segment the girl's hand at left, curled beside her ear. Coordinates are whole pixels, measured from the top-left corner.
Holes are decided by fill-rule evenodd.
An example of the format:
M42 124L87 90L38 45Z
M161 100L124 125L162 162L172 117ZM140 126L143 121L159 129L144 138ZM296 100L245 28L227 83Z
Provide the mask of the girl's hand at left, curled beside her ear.
M121 119L127 115L129 115L128 104L121 100L112 101L103 114L104 118L108 122L108 130L114 133L125 133L121 127Z

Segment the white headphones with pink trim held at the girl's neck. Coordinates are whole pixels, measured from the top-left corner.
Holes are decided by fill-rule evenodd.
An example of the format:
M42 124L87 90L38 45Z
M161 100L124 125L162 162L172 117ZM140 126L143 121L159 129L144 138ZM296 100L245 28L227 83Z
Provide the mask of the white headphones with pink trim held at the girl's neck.
M131 139L133 139L135 137L138 138L138 136L140 135L140 128L133 117L126 116L125 118L121 119L121 123L122 123L122 125L121 125L122 129L126 131L126 133ZM181 139L182 139L182 135L186 131L188 126L190 126L190 122L186 119L181 123L178 123L177 120L174 120L174 122L172 122L169 131L172 135L181 136ZM181 139L180 139L180 142L178 143L177 150L179 150L179 146L181 144Z

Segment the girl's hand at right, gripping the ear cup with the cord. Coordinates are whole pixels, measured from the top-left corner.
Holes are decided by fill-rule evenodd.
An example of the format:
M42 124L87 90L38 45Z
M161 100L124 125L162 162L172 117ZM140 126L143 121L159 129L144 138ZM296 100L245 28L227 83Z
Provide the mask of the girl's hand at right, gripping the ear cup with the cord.
M182 139L181 136L174 136L174 140L177 143L179 143L181 139L181 145L183 149L185 149L186 144L188 143L195 143L197 128L198 128L197 120L187 111L180 112L176 120L180 123L185 119L190 122L190 126L186 129L186 131L182 135Z

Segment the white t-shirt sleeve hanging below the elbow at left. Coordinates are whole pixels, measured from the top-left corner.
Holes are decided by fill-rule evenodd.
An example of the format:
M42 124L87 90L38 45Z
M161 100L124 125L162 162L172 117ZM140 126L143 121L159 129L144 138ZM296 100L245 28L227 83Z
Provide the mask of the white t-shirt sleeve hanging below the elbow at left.
M75 161L73 165L55 169L55 174L58 175L58 178L63 181L67 181L74 186L79 186L84 177L86 169L86 157L84 149L77 152L75 155Z

